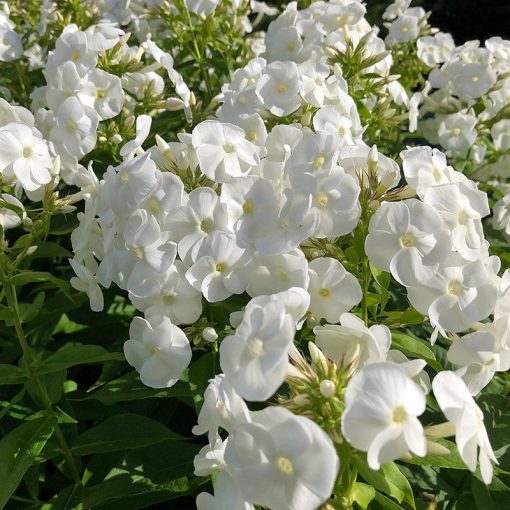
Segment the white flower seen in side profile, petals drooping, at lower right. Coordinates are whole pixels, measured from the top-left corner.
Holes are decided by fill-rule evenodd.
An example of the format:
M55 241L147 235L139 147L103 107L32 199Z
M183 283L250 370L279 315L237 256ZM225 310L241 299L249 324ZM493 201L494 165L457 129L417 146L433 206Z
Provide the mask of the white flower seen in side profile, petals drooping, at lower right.
M432 381L432 389L444 415L455 424L455 441L462 460L474 472L478 457L482 479L489 484L492 464L498 461L487 436L482 411L462 379L453 372L439 372Z

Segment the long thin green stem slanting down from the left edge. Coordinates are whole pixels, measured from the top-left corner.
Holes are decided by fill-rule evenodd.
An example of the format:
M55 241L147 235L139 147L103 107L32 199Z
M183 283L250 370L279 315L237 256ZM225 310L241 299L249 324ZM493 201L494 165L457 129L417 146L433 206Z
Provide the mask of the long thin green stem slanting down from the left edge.
M44 384L41 382L41 379L39 377L39 374L34 369L34 357L32 355L32 351L30 349L30 346L28 345L27 339L25 337L25 332L23 331L23 326L21 323L20 313L19 313L19 303L18 298L16 296L16 291L13 287L13 285L9 282L8 277L4 271L3 265L0 261L0 280L2 281L2 285L5 289L5 297L7 300L7 304L9 305L9 308L13 312L13 323L14 323L14 329L16 331L16 336L18 337L19 344L21 346L21 350L23 351L23 356L27 361L28 364L28 372L30 374L30 378L34 383L37 397L39 398L41 404L43 405L44 409L48 411L50 415L53 414L53 407L51 404L51 400L48 397L48 393L46 391L46 388L44 387ZM71 452L71 448L67 444L67 441L64 437L64 434L62 433L62 430L60 428L60 425L58 423L55 424L55 435L57 436L57 440L60 444L60 448L62 450L62 453L64 454L64 457L67 460L67 463L69 465L69 468L71 470L71 473L73 475L73 478L77 484L81 484L81 478L80 478L80 472L78 470L78 466L76 465L76 462L74 460L73 454Z

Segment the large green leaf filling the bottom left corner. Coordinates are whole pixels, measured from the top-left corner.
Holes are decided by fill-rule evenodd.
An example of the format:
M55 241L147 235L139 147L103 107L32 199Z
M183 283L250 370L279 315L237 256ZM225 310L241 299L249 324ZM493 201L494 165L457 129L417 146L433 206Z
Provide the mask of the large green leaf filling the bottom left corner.
M34 420L9 432L0 441L0 508L18 487L53 433L50 418Z

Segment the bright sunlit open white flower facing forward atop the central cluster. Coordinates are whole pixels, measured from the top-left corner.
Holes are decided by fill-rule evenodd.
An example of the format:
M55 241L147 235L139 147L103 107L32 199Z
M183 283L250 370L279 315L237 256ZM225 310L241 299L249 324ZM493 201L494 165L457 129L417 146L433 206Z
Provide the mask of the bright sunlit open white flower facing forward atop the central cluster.
M243 129L233 124L206 120L191 135L200 170L216 182L246 175L259 163L258 148L246 139Z

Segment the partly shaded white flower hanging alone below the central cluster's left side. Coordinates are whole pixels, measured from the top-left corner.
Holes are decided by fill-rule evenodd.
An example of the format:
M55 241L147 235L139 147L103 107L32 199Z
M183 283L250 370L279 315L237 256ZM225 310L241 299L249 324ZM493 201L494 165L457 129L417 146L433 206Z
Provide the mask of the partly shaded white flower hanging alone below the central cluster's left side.
M181 377L191 361L191 347L181 329L168 317L135 317L124 343L127 362L151 388L168 388Z

